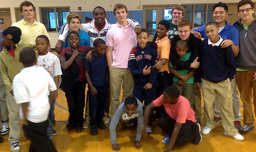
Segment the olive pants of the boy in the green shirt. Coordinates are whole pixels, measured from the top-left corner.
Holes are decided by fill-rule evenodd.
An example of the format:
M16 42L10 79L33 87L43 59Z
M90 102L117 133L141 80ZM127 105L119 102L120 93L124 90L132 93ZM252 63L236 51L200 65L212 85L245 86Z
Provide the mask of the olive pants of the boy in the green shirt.
M177 82L173 81L172 85L179 89L179 93L181 96L184 96L186 97L186 99L189 100L191 109L194 110L194 84L184 83L180 85Z

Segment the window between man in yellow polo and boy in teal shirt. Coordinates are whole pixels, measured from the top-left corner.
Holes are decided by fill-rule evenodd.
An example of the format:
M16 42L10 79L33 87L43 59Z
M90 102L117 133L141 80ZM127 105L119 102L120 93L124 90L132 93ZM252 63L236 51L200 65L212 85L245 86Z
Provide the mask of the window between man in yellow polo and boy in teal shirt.
M63 24L67 23L67 15L70 14L69 7L40 8L42 24L47 31L60 31Z

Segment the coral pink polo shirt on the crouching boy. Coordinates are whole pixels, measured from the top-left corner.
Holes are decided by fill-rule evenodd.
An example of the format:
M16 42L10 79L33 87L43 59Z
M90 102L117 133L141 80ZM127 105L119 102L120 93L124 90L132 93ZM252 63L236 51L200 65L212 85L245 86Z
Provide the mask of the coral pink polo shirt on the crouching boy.
M164 105L165 112L176 122L186 123L186 120L196 122L195 112L191 109L188 99L179 96L176 104L164 104L162 100L163 94L153 101L157 107Z

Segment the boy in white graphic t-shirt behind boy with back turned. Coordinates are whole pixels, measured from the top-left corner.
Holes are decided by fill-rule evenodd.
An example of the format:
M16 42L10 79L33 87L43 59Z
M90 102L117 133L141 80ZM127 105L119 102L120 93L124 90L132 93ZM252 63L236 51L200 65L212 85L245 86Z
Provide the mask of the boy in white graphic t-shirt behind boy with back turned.
M47 48L50 45L49 39L45 35L37 36L35 40L35 45L37 50L39 51L39 56L37 59L36 66L43 67L47 70L55 82L55 85L58 86L59 83L59 75L62 75L61 68L60 68L60 60L59 58L50 53ZM55 96L52 99L52 103L50 105L50 112L49 112L49 124L47 127L47 136L48 138L52 139L53 135L57 135L57 131L54 130L53 124L55 123L55 114L54 114L54 106L55 106L55 99L57 98L58 90L55 91Z

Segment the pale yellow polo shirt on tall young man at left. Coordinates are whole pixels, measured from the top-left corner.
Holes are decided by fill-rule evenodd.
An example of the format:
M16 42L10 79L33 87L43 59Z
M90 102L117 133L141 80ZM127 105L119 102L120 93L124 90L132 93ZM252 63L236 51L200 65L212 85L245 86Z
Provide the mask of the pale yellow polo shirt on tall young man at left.
M35 39L37 36L45 35L49 38L48 32L45 28L45 25L39 22L36 22L34 19L34 23L30 26L24 19L19 22L13 23L12 27L18 27L21 29L21 36L19 44L25 43L27 47L35 48Z

